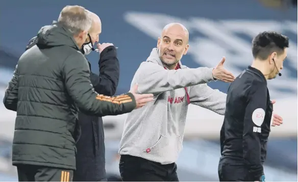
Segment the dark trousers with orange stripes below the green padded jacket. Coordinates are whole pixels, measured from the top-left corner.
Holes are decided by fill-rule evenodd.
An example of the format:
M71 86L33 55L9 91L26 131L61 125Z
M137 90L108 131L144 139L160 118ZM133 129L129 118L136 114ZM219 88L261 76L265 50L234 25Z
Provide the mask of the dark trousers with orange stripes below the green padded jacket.
M17 165L18 181L72 181L73 171L35 165Z

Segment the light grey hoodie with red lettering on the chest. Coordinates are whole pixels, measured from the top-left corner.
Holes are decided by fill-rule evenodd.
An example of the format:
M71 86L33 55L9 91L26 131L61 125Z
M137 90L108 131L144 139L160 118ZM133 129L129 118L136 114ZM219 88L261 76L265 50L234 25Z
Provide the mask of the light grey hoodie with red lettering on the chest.
M213 68L187 68L180 62L179 66L182 69L165 69L157 48L141 63L131 87L138 84L138 92L153 93L155 99L128 114L120 155L133 155L161 164L173 163L182 149L189 103L225 114L227 95L206 84L214 81Z

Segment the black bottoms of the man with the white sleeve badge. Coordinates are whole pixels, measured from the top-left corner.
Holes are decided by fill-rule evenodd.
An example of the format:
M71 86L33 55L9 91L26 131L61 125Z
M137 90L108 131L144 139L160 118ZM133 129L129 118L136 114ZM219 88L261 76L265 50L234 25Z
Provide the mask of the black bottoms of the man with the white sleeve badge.
M254 181L241 159L221 157L218 164L219 181Z

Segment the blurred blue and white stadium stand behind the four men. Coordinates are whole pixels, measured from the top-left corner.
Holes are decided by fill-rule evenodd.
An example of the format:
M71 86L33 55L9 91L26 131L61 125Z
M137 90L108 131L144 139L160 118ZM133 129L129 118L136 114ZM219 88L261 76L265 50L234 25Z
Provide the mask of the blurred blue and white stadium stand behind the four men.
M129 90L135 70L145 61L162 28L181 22L190 32L190 50L182 60L189 67L213 67L226 56L226 68L238 75L251 64L251 41L261 31L278 31L290 38L283 76L269 81L275 112L284 124L272 127L265 163L267 181L297 181L297 0L109 0L109 1L1 1L0 97L11 79L19 56L38 30L65 5L81 5L98 14L103 23L100 42L118 48L120 83L117 93ZM88 56L98 73L98 55ZM228 84L209 84L226 92ZM0 180L16 181L11 165L15 113L0 103ZM107 173L117 180L118 143L126 115L104 117ZM184 148L177 162L181 181L217 181L222 116L200 107L188 111Z

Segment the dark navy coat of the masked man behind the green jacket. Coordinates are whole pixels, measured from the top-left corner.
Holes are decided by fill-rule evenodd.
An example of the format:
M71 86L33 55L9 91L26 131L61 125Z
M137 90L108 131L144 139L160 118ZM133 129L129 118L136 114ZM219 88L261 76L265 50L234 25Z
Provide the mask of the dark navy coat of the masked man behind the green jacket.
M119 81L119 61L114 46L105 48L100 54L100 75L90 74L94 90L100 94L112 96ZM91 69L91 66L90 66ZM76 144L77 170L73 181L106 180L105 135L103 119L79 113L81 137Z

